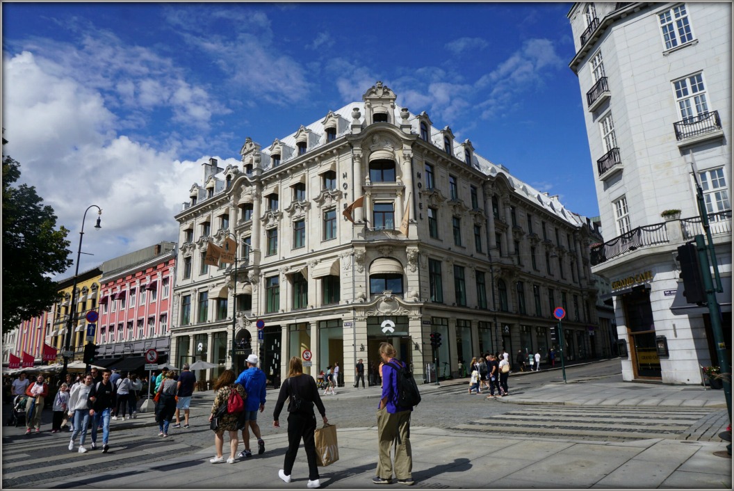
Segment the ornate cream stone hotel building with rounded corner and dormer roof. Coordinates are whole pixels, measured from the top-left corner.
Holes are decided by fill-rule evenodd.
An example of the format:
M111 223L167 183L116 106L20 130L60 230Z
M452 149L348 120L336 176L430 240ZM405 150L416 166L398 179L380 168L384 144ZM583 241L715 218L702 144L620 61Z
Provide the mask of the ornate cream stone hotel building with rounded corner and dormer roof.
M431 332L442 335L439 374L457 374L480 352L545 355L559 305L567 356L608 354L607 333L592 335L589 222L396 106L381 82L266 148L248 138L241 161L203 164L175 217L173 363L193 355L239 370L253 349L269 383L292 356L310 359L313 376L338 362L352 383L357 360L377 363L388 340L421 380ZM357 198L352 223L343 212ZM236 283L233 265L203 262L228 236Z

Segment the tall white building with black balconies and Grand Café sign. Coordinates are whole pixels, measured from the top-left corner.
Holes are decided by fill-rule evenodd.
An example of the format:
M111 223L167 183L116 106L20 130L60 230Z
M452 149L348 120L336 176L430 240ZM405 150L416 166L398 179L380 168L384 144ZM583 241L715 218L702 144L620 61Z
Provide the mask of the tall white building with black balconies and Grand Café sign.
M731 4L576 3L568 18L606 239L592 265L611 280L623 377L700 383L711 322L686 303L676 257L702 233L697 178L730 328Z

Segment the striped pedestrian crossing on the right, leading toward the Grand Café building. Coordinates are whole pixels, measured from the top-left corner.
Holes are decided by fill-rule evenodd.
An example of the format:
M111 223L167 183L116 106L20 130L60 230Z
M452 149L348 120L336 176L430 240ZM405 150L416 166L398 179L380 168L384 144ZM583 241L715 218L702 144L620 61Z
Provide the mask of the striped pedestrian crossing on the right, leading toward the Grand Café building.
M702 408L533 406L478 418L452 429L490 435L606 441L675 439L711 412Z

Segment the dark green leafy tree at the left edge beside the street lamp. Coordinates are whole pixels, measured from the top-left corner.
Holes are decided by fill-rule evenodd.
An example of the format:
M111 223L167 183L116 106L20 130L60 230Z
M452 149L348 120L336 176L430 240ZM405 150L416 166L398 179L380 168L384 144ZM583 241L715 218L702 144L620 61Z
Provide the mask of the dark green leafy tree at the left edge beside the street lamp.
M3 145L7 140L3 138ZM59 299L50 274L65 272L72 262L64 227L57 230L54 208L43 205L34 186L11 186L21 164L2 161L2 331L40 316Z

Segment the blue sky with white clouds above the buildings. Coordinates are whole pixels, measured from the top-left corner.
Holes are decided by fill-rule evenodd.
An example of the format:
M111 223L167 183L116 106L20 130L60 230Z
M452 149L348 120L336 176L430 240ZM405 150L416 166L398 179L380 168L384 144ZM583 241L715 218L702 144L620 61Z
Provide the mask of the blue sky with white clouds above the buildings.
M75 252L84 210L103 208L83 270L177 240L173 216L210 156L237 164L246 137L267 147L381 80L400 106L593 217L570 7L4 3L4 154Z

